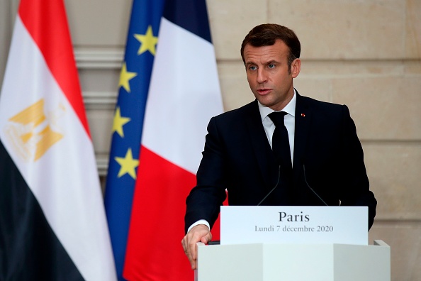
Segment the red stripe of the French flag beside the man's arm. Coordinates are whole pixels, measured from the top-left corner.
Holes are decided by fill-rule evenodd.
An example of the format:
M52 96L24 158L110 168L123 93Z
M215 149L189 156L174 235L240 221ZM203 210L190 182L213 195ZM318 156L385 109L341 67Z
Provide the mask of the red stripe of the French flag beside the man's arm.
M181 247L186 197L196 175L142 146L123 276L127 280L193 280ZM212 229L219 240L219 219ZM171 257L171 260L168 260ZM176 258L174 258L176 257ZM176 273L176 274L175 274Z

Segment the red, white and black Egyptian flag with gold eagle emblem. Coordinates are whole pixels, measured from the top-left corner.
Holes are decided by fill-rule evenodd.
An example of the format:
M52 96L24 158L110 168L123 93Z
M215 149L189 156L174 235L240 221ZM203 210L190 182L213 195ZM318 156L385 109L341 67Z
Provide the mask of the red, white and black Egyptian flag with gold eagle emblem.
M0 280L116 280L62 0L22 0L0 94Z

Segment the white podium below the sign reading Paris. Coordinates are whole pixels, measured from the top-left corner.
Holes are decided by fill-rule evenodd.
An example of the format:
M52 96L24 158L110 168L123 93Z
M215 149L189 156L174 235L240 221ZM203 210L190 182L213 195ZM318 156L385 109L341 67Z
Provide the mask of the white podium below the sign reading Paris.
M391 248L336 243L197 243L195 281L390 281Z

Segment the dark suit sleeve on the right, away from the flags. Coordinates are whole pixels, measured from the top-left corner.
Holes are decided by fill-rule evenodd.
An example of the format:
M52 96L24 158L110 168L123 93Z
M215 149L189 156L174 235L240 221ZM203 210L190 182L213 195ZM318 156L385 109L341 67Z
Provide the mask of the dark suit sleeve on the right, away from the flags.
M342 140L342 182L344 187L340 194L342 206L368 206L369 228L374 223L377 201L369 189L369 178L364 165L364 153L357 128L351 119L349 109L343 106Z

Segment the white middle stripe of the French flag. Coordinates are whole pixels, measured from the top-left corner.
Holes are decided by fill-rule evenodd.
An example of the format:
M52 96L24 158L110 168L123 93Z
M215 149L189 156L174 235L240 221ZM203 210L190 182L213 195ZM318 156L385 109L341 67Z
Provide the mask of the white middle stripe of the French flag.
M212 43L162 18L142 145L196 174L206 126L221 113Z

